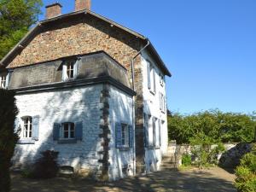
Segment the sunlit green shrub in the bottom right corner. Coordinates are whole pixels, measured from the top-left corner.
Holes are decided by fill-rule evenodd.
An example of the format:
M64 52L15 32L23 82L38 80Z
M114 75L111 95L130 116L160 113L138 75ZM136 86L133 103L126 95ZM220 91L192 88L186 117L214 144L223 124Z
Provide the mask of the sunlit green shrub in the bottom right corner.
M236 189L240 192L256 191L256 154L245 154L236 167Z

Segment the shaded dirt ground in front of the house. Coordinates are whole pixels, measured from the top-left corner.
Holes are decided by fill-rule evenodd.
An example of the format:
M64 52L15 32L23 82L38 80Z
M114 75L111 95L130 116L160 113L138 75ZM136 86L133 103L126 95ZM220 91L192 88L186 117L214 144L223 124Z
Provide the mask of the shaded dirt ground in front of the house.
M108 192L108 191L175 191L175 192L236 192L235 176L213 167L179 172L175 169L153 172L142 177L128 177L113 183L90 180L53 178L33 180L12 175L12 192Z

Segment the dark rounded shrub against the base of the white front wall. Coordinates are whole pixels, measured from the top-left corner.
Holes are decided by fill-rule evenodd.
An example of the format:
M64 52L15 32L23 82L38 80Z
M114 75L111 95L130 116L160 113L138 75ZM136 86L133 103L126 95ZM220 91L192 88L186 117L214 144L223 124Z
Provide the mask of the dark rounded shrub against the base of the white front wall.
M37 160L33 166L32 173L29 177L33 178L51 178L55 177L58 173L59 166L57 164L57 158L59 152L44 151L42 156Z

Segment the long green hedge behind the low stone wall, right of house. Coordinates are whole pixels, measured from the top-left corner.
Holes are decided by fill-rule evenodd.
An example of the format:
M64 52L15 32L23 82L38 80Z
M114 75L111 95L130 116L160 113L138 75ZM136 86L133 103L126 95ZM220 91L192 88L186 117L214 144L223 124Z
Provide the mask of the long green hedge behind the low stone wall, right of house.
M219 110L168 116L169 139L178 144L190 143L199 134L211 138L212 143L250 143L255 126L251 114L222 113Z

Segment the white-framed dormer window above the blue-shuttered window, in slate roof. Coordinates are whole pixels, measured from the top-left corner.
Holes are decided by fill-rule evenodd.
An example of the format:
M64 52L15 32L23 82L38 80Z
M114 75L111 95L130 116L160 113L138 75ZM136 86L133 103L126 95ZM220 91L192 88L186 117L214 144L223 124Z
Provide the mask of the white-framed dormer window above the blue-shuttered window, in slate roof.
M62 81L75 79L77 75L77 61L65 61L62 66Z

